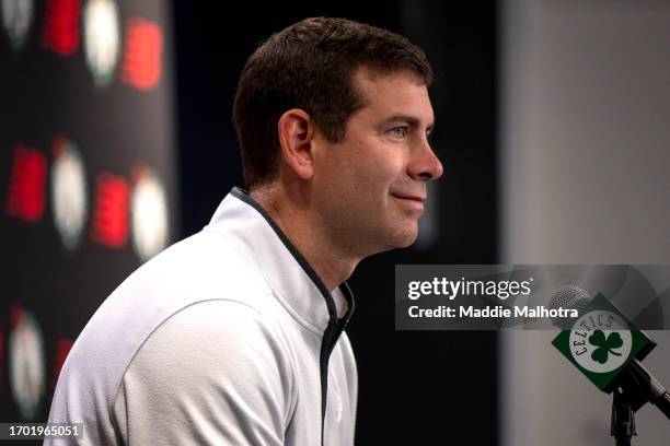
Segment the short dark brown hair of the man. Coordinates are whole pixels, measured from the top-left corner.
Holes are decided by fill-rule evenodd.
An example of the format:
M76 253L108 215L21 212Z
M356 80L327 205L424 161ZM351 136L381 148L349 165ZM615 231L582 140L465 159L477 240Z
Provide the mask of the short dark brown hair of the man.
M328 141L343 140L347 119L365 105L351 82L360 67L407 70L427 86L432 81L426 55L405 37L345 19L305 19L251 55L233 105L247 188L277 174L277 125L285 111L301 108Z

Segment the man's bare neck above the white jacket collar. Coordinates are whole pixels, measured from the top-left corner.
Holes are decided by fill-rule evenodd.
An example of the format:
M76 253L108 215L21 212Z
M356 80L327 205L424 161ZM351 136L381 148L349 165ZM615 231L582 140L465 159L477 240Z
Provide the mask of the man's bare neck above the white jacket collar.
M287 197L276 187L254 188L250 196L277 223L289 240L310 262L328 291L351 275L360 261L347 253L319 225L311 207L301 197Z

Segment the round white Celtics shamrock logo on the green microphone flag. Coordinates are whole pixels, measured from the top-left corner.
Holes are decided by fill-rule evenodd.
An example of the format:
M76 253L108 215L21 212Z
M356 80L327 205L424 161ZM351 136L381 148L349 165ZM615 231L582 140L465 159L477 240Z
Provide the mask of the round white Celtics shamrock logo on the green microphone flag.
M627 324L615 313L594 310L579 318L569 337L570 353L589 372L608 373L626 363L633 338Z

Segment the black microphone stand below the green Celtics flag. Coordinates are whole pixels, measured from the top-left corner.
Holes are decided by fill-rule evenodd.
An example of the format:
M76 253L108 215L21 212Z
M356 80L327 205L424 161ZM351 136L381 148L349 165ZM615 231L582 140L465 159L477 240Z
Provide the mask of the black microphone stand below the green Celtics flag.
M670 420L670 394L638 360L621 372L613 394L610 434L616 446L631 446L631 439L637 435L635 412L647 402L656 404Z

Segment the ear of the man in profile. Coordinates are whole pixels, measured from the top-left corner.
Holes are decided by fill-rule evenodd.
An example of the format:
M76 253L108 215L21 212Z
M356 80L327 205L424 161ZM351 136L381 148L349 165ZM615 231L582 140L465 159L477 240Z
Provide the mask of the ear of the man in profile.
M291 108L277 124L284 162L302 179L314 173L314 121L304 110Z

